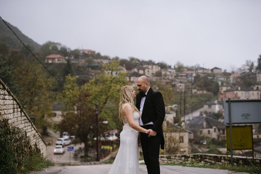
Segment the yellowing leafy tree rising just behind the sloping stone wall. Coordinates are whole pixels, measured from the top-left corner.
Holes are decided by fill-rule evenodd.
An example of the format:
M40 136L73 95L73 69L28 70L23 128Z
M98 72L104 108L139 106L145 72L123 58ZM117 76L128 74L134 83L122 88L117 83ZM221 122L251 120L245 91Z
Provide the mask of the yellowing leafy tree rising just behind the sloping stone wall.
M47 134L46 128L51 117L52 85L54 79L48 78L48 73L37 62L20 62L14 70L14 80L20 92L17 98L30 115L36 116L35 124L42 134Z

